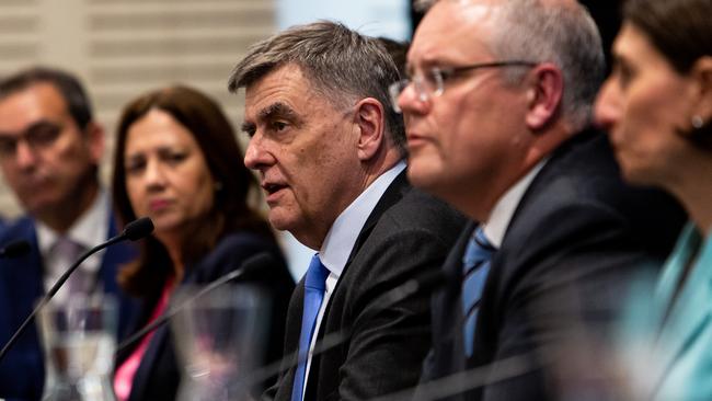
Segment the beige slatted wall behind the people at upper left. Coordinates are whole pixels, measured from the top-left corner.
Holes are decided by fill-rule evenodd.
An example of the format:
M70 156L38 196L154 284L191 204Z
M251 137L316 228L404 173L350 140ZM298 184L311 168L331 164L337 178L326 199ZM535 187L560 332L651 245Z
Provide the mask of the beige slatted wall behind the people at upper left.
M228 75L275 26L271 0L0 0L0 76L43 64L81 77L106 128L107 179L120 108L147 90L187 83L219 100L233 124L241 122ZM0 181L0 214L19 213Z

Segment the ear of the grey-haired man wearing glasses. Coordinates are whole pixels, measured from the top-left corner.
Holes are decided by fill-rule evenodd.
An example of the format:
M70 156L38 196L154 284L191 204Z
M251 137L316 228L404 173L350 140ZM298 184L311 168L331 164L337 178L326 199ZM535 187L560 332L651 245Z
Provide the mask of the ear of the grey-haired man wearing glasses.
M561 106L564 77L561 70L544 62L532 68L527 78L527 115L529 129L537 131L549 124Z

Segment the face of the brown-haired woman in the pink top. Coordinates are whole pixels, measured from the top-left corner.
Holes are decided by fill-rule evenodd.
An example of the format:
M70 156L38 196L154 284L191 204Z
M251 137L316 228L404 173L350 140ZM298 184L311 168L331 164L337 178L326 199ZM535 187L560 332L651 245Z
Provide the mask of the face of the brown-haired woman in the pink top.
M126 190L136 216L148 216L162 242L181 242L213 207L215 182L191 131L151 110L129 126Z

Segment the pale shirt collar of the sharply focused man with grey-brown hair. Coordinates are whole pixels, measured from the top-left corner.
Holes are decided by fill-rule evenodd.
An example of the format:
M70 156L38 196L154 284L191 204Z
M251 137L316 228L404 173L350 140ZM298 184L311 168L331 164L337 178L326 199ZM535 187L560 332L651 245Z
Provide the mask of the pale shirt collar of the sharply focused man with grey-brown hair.
M319 252L321 263L331 274L336 277L341 276L368 216L374 211L386 190L403 170L405 170L405 161L401 160L376 179L334 220Z

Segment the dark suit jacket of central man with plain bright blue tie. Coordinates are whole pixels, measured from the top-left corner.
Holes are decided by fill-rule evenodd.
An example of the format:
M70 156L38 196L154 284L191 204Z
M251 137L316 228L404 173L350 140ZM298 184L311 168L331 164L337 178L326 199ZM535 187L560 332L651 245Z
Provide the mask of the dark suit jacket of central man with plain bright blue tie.
M389 186L361 229L322 320L318 339L348 330L346 341L312 358L305 400L366 400L414 386L429 343L428 295L388 305L382 294L439 268L463 225L444 203L413 190L405 172ZM289 303L285 355L299 346L303 279ZM296 358L286 360L265 399L289 400Z

